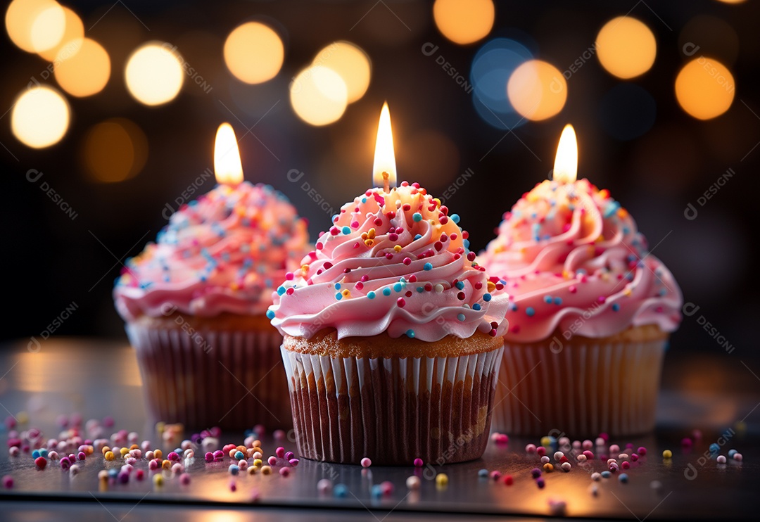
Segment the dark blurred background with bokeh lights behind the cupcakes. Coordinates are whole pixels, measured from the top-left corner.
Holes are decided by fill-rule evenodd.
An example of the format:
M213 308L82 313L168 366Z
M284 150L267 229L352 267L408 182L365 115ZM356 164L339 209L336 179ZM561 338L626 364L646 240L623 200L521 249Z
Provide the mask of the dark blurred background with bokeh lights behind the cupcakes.
M188 187L195 187L193 197L213 188L204 171L213 168L214 134L224 121L240 139L245 179L283 191L309 218L315 238L329 222L324 207L337 209L369 188L378 114L388 100L400 179L448 195L475 251L492 239L502 213L548 176L562 127L572 122L580 176L609 188L632 213L694 304L672 350L752 356L760 312L749 257L758 240L757 2L496 2L492 27L491 2L484 8L472 2L465 14L440 3L436 24L432 2L62 2L81 19L84 36L100 44L77 40L78 52L92 53L87 60L75 59L67 46L58 59L55 49L43 53L47 59L26 52L6 28L0 37L0 161L9 185L0 205L2 340L26 342L46 331L125 338L112 305L113 281L125 258L166 223L167 204L176 209ZM11 7L33 4L17 0ZM44 22L52 28L14 11L20 21L14 27L35 22L33 46L49 45L44 40L55 33L60 14L45 8L52 9ZM249 74L261 79L277 71L261 83L236 78L223 55L230 32L246 22L270 27L283 43L281 68L276 42L248 49L239 33L230 43L237 46L230 60L242 56L239 66ZM617 51L610 44L601 57L617 76L594 48L605 24L606 36L623 43ZM261 25L247 27L250 38L271 36ZM17 38L29 40L29 31ZM354 93L359 99L340 115L347 91L335 87L337 94L320 100L325 94L312 84L329 84L335 74L312 71L293 84L296 104L302 100L312 110L299 116L291 81L321 49L326 58L315 65L331 67L341 55L336 49L343 49L331 43L339 40L366 53L366 93ZM184 63L181 90L157 106L136 100L125 84L128 57L150 41L160 59L181 55ZM360 91L358 55L337 72ZM515 80L522 99L512 100L506 84L530 59L556 69L540 65L534 77ZM682 106L676 78L684 67ZM170 91L170 72L159 65L147 77ZM638 75L619 78L626 74ZM543 98L531 98L541 92L536 85L543 85ZM309 92L312 98L299 98ZM27 93L46 96L14 106ZM65 134L48 147L30 147L45 139L35 122L55 127L48 112L55 112L59 95L70 109ZM48 112L35 114L46 103ZM515 111L526 103L528 118ZM309 118L337 121L313 126Z

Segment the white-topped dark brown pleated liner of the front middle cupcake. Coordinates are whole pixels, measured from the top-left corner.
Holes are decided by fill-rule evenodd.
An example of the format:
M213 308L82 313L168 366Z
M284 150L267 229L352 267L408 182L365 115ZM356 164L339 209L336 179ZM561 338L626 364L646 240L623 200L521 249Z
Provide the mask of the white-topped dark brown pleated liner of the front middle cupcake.
M502 348L436 358L331 358L282 348L299 454L443 464L483 455Z

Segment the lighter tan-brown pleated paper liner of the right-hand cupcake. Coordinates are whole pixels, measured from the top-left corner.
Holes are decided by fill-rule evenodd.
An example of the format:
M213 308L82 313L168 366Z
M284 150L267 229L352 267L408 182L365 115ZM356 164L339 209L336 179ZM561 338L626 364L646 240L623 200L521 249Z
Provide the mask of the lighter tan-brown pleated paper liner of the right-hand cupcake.
M493 429L576 438L650 432L665 343L507 343Z

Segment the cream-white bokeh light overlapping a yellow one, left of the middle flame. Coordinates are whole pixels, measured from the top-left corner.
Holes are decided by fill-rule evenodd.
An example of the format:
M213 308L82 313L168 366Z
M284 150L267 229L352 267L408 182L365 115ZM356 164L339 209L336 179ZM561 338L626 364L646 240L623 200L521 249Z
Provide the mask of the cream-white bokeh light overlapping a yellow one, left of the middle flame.
M337 122L348 105L346 82L331 68L312 65L290 84L290 105L309 125Z

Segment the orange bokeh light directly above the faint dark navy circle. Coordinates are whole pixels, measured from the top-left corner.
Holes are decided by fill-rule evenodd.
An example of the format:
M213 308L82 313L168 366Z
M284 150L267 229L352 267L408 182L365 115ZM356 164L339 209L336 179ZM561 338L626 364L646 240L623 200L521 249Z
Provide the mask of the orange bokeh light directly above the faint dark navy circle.
M610 74L627 80L644 74L654 64L657 42L643 22L629 16L604 24L597 35L597 56Z

